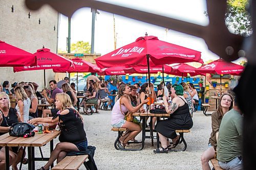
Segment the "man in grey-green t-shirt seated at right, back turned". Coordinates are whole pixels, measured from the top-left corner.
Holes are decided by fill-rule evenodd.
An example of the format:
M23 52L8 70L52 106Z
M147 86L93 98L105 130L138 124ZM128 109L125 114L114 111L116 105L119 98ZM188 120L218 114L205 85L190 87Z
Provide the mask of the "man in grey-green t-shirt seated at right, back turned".
M223 169L243 169L242 164L243 116L234 100L234 107L222 118L218 136L217 159Z

